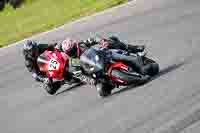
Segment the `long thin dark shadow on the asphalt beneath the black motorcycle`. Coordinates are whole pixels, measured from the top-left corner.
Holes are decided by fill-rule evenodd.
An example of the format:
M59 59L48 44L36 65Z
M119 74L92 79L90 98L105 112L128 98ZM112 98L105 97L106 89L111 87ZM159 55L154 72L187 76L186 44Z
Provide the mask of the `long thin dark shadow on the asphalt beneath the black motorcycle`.
M145 84L148 84L149 82L151 82L151 81L153 81L153 80L155 80L155 79L157 79L157 78L159 78L159 77L161 77L161 76L163 76L163 75L165 75L167 73L175 71L176 69L180 68L181 66L183 66L185 64L188 64L188 62L187 61L182 61L182 62L179 62L179 63L176 63L176 64L169 65L166 68L163 68L162 70L160 70L160 72L156 76L152 77L149 81L147 81L147 82L145 82L143 84L139 84L139 85L135 85L134 84L134 85L130 85L128 87L124 87L124 88L122 88L122 89L120 89L118 91L113 92L110 96L116 95L116 94L120 94L120 93L128 91L130 89L135 89L136 87L140 87L140 86L143 86Z

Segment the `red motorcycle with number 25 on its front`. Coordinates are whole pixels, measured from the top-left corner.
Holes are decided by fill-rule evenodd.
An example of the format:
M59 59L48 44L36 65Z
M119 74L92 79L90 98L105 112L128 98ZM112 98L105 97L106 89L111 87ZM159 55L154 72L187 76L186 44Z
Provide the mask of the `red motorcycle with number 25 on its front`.
M63 52L57 50L42 53L38 59L37 64L45 77L48 77L49 83L44 87L45 90L53 95L65 84L65 80L70 77L69 72L69 57Z

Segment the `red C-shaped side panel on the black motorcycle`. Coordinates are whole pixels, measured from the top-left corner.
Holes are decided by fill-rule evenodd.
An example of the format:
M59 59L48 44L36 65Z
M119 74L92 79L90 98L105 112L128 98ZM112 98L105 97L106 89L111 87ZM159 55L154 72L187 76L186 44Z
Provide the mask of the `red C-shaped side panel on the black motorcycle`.
M126 83L126 81L120 80L120 79L113 77L111 75L113 69L124 69L124 70L128 71L128 66L126 66L125 64L123 64L121 62L117 62L115 64L112 64L108 69L108 75L111 77L112 81L116 81L116 82L121 83L121 84Z

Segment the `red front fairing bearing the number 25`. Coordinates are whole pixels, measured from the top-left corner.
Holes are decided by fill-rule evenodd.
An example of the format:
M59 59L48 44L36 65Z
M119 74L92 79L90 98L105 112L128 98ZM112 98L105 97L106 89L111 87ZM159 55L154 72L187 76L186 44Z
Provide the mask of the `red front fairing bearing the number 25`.
M57 80L63 80L65 64L68 63L68 56L65 53L45 51L38 59L38 66L47 76Z

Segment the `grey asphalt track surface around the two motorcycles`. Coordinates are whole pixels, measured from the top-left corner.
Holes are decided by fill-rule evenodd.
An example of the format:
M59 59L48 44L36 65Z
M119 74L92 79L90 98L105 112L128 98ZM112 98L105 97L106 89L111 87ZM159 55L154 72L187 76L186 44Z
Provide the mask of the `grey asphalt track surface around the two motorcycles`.
M99 98L63 86L49 96L24 67L21 45L0 49L1 133L197 133L200 119L200 1L138 0L31 39L115 34L145 43L161 68L151 82Z

